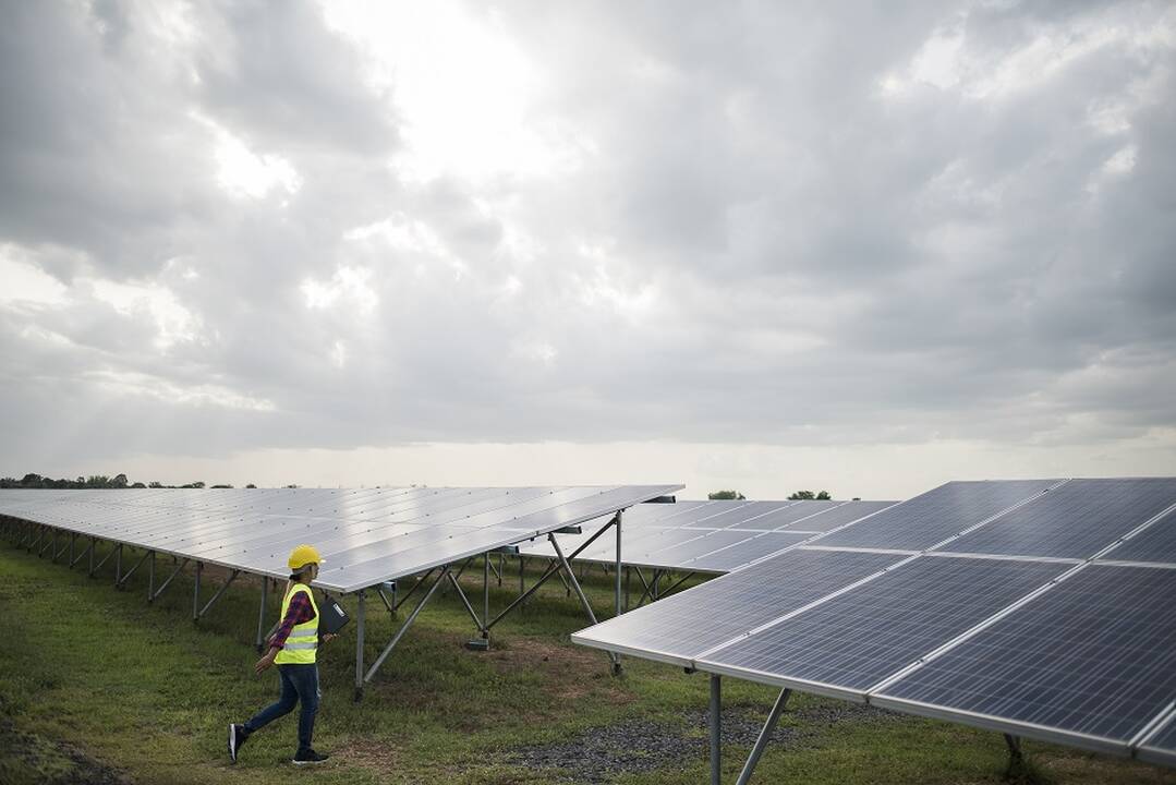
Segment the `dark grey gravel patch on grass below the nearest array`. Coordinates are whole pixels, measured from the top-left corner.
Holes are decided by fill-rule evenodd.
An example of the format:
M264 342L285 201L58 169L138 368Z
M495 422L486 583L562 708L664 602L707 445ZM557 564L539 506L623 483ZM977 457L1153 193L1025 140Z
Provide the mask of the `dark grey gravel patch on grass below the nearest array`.
M788 711L771 736L773 745L803 746L838 723L881 723L893 712L850 703L830 703ZM749 747L763 729L763 710L734 706L723 711L723 746ZM709 711L689 711L681 723L635 720L594 727L567 741L519 747L507 763L530 769L562 770L559 781L609 783L620 774L682 769L710 753ZM552 773L555 773L554 771Z

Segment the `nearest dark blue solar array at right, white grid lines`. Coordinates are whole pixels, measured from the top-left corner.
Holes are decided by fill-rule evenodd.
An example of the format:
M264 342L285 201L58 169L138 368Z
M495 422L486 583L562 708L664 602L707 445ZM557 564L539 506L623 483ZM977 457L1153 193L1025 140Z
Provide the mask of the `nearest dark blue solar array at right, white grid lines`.
M1176 765L1176 478L949 483L573 636Z

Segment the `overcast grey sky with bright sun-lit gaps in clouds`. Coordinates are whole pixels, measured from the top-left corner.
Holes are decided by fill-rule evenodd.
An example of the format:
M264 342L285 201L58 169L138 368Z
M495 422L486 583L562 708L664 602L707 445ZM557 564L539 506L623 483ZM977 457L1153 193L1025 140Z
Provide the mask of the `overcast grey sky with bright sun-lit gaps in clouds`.
M1170 2L9 2L0 474L1176 474Z

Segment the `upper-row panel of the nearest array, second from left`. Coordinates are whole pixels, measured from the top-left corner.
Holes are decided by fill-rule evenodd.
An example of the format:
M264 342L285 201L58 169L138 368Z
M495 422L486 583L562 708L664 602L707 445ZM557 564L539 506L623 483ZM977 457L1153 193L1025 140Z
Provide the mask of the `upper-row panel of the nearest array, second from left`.
M1174 504L1176 479L1070 480L949 550L1084 559Z

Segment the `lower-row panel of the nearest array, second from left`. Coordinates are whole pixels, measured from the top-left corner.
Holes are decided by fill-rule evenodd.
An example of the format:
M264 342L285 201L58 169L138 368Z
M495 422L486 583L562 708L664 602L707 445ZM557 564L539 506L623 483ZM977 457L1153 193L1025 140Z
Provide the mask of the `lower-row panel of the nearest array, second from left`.
M851 697L948 643L1069 565L922 557L710 652L699 667L814 681Z

